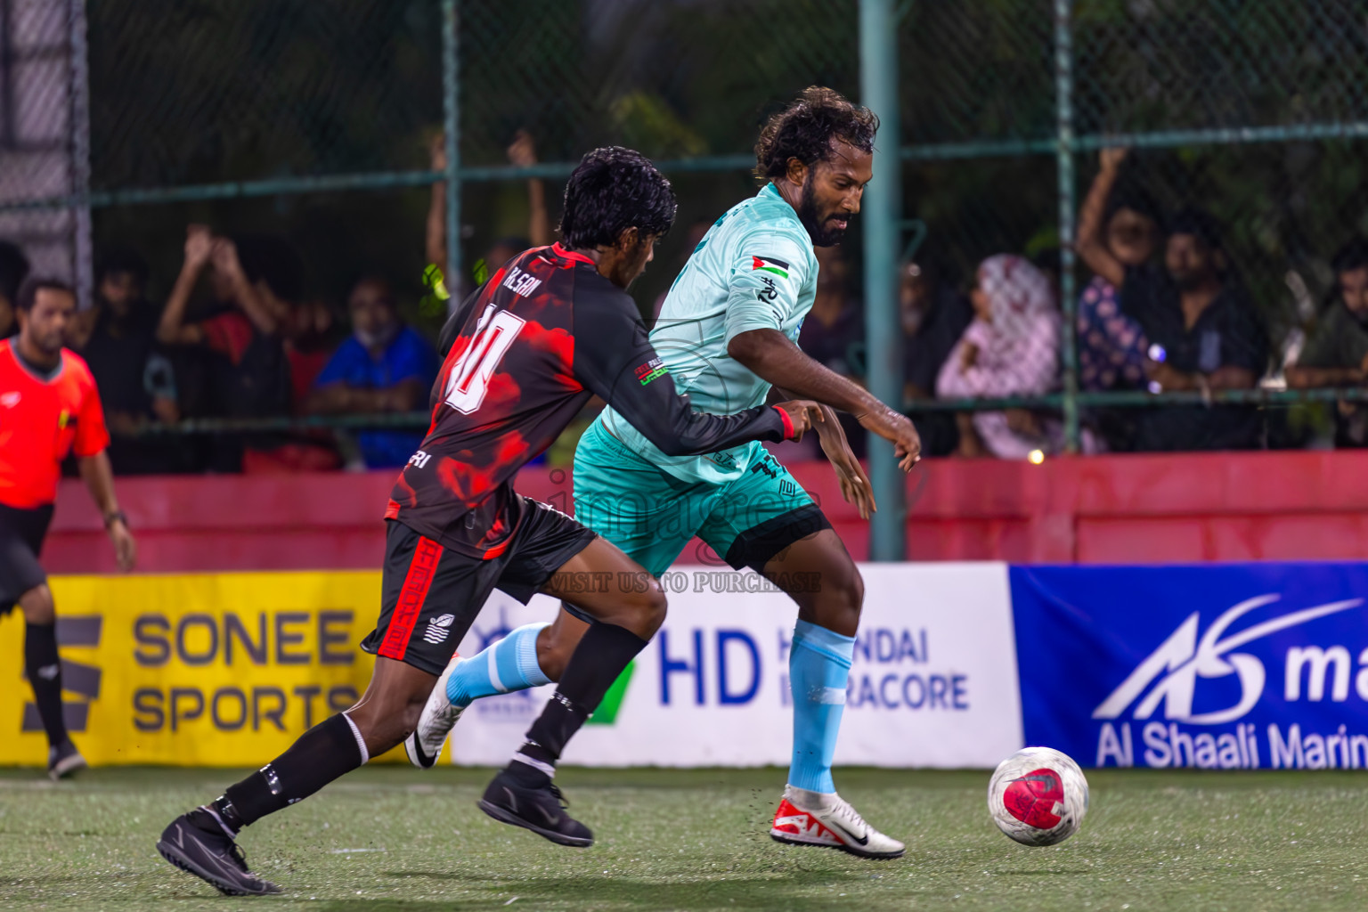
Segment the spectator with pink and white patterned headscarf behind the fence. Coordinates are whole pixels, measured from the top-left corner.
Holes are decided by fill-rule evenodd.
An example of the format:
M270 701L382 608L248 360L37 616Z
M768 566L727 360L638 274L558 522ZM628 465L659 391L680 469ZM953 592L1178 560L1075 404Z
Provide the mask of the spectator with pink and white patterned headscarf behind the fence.
M941 366L947 398L1037 395L1059 369L1059 310L1049 278L1022 257L999 254L978 267L970 293L974 320ZM1063 448L1057 421L1025 409L960 413L959 455L1025 459Z

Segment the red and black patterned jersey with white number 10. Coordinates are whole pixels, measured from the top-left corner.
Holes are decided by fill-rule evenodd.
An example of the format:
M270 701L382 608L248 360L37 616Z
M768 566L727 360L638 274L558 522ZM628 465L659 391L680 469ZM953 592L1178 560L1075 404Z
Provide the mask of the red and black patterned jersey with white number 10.
M647 339L632 298L561 245L509 260L442 332L432 424L404 466L386 518L479 556L510 533L512 479L599 395L672 455L782 440L772 406L692 412Z

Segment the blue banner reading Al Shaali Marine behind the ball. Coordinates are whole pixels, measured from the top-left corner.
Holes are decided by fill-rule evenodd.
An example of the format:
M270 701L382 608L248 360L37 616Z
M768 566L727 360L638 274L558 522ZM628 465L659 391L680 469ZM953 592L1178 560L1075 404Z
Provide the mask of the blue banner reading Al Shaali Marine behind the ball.
M1026 744L1082 766L1368 767L1368 565L1010 573Z

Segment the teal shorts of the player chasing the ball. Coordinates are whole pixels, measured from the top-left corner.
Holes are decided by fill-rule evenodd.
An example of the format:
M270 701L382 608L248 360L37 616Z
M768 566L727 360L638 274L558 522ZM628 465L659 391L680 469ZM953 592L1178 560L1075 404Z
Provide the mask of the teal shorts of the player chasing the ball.
M751 447L748 468L735 481L684 481L595 421L575 450L575 518L655 577L694 536L732 567L761 570L832 524L769 450L758 442Z

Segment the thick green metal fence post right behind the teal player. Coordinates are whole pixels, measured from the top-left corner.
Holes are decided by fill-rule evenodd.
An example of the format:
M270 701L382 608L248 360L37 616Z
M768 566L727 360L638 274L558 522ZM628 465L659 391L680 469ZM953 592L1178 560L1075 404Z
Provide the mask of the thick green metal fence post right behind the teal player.
M878 113L880 152L874 180L865 193L865 339L869 390L897 407L903 401L903 371L897 330L897 257L900 250L903 182L897 105L897 18L893 0L860 0L859 71L862 101ZM886 440L873 433L869 444L870 481L878 513L870 520L871 561L907 556L906 481Z

